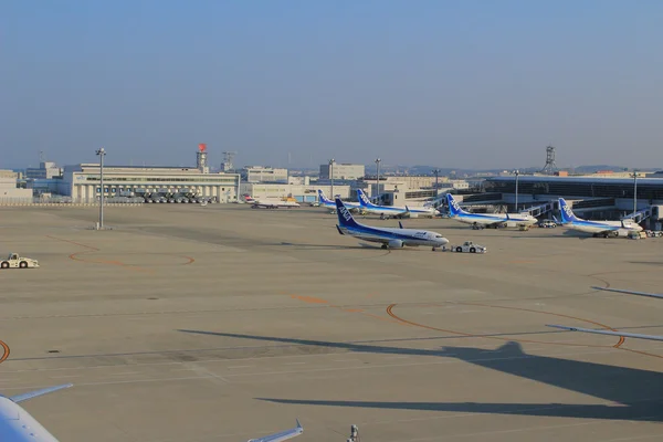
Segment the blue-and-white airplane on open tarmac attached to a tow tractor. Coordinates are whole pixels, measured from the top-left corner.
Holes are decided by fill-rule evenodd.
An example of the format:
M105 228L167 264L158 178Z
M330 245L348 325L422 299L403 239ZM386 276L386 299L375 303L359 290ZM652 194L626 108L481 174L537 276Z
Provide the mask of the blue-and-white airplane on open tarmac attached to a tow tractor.
M338 224L336 224L338 233L341 235L349 234L369 242L382 243L382 249L429 245L434 252L435 249L449 243L449 240L438 232L403 229L400 223L400 229L372 228L360 224L355 221L352 214L339 198L336 198L336 214L338 215Z

